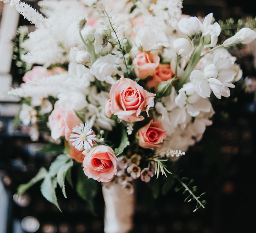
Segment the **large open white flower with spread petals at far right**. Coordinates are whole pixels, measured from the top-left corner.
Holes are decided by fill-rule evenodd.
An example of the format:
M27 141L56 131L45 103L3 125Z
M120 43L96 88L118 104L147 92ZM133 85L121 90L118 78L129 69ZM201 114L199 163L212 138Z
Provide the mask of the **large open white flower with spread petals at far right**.
M211 92L220 99L221 96L229 97L229 88L235 86L231 83L234 80L236 72L230 69L233 65L228 58L220 58L220 52L217 51L212 56L205 55L207 66L203 72L194 70L191 72L190 81L195 86L195 90L202 98L210 97Z

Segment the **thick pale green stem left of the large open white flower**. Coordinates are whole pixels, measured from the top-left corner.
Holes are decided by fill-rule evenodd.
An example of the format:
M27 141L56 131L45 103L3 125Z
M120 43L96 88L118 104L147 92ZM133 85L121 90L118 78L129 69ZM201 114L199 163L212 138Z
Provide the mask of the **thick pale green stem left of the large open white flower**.
M197 63L200 61L201 59L201 52L203 50L204 46L203 45L199 45L198 47L196 47L192 54L191 57L189 59L189 63L187 68L185 69L182 78L179 80L179 82L177 83L177 90L181 89L183 84L186 83L188 77L190 76L191 72L195 69Z

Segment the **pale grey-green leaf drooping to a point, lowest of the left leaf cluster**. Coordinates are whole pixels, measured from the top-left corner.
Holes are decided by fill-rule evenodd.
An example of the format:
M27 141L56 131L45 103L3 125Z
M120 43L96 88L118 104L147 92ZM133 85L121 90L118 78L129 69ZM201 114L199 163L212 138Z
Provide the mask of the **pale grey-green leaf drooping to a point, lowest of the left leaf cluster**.
M52 178L51 174L48 173L45 176L44 181L41 184L41 193L47 201L56 205L57 208L61 211L61 209L59 207L59 204L58 204L58 201L57 201L56 193L55 193L56 187L57 187L56 177Z

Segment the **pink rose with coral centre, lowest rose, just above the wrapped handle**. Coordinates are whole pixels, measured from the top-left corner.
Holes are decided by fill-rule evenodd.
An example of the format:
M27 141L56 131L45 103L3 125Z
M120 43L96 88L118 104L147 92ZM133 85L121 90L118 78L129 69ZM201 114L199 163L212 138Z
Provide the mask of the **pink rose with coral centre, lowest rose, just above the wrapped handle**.
M86 154L83 167L84 174L89 178L109 182L117 172L117 157L109 146L98 145Z

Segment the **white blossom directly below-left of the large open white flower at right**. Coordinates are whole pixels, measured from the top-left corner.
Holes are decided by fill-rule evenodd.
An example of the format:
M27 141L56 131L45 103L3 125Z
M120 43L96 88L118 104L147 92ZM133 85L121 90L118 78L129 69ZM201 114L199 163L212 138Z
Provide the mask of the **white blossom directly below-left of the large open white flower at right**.
M211 110L211 102L209 99L203 99L196 91L192 83L183 85L179 90L179 95L175 99L175 103L180 108L187 110L190 116L198 116L200 112L208 113Z

